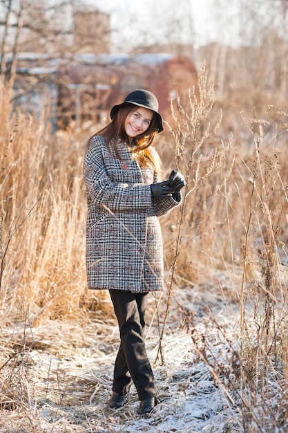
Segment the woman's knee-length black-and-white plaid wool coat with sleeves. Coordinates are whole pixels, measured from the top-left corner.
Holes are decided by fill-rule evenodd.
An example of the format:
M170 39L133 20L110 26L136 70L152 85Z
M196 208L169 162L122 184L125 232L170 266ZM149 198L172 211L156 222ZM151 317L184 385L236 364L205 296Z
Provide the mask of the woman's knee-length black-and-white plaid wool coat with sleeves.
M88 217L86 268L90 289L148 292L163 288L162 234L158 216L181 201L152 199L158 181L152 166L140 168L128 145L121 160L94 136L84 156Z

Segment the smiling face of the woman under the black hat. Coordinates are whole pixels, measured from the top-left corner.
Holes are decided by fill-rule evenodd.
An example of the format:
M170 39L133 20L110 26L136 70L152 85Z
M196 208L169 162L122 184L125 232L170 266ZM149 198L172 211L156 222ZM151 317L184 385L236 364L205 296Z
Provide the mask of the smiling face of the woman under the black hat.
M143 107L135 107L134 111L128 114L125 120L125 132L129 138L134 138L147 131L153 111Z

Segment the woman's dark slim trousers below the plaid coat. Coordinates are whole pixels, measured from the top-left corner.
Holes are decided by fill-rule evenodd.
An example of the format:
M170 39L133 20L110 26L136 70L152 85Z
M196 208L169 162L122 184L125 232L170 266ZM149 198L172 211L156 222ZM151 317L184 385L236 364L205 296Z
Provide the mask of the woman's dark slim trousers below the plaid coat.
M121 340L115 360L112 389L118 394L126 394L133 380L139 399L146 400L157 394L143 336L148 293L109 292Z

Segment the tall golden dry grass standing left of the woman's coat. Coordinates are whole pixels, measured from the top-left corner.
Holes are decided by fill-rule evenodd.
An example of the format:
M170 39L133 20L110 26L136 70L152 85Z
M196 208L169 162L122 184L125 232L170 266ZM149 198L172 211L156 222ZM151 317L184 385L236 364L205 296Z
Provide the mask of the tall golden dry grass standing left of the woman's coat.
M33 321L73 317L79 304L99 303L86 293L84 139L52 135L21 112L10 116L10 95L8 88L1 98L3 313L8 308L13 320L22 308Z

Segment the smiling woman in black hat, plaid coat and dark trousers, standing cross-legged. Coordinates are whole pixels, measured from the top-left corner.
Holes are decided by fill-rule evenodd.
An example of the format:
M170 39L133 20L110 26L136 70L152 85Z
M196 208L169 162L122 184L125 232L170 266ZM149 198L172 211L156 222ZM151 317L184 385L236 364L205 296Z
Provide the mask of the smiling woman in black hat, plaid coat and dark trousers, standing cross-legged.
M143 415L157 404L143 336L148 292L163 288L157 217L180 203L185 182L174 170L159 182L160 158L151 144L163 126L153 93L129 93L111 109L111 119L90 138L84 157L87 280L90 289L109 290L119 324L109 406L127 403L133 381Z

